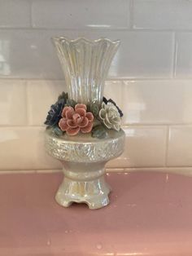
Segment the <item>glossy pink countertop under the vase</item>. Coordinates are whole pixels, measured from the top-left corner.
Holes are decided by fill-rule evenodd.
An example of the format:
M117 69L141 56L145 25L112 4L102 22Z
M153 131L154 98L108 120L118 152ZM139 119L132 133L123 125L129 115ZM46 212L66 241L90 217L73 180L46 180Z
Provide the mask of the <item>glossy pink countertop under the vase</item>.
M1 256L192 255L192 178L109 174L111 205L65 209L62 174L0 175Z

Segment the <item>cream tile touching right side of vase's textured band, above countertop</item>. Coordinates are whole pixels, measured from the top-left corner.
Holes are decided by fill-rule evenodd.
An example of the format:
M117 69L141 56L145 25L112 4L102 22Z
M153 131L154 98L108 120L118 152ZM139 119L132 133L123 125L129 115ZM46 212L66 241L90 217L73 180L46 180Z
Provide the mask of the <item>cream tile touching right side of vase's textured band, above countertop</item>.
M158 167L165 164L167 128L164 126L135 126L124 128L124 153L110 161L107 167Z

